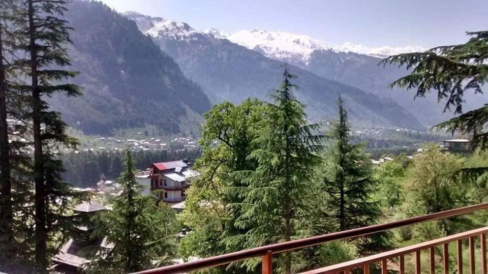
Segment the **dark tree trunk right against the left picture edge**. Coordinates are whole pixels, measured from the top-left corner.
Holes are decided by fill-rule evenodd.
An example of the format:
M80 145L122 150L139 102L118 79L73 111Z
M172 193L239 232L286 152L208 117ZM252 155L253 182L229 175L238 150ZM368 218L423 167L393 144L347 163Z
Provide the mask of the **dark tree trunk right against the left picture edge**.
M6 259L12 255L13 248L13 215L12 215L12 177L10 163L10 144L7 124L7 82L5 76L2 42L2 26L0 26L0 218L1 231L5 241L0 243Z

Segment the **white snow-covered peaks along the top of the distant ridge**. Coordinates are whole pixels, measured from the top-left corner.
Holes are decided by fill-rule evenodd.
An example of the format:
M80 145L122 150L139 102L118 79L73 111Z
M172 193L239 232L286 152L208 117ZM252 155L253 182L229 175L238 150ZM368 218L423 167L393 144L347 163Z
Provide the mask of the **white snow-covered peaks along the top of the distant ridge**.
M353 52L375 57L386 57L394 54L424 51L419 46L391 47L383 46L370 48L361 44L344 43L331 45L324 41L314 39L307 35L296 35L285 32L268 32L262 29L252 31L239 31L233 34L220 31L217 28L207 28L200 32L185 22L150 17L137 12L126 12L125 16L136 21L137 26L144 34L153 38L158 36L171 36L175 39L197 39L200 35L211 35L217 39L227 39L238 45L256 50L266 57L286 61L309 63L310 55L314 50L332 50L334 52Z

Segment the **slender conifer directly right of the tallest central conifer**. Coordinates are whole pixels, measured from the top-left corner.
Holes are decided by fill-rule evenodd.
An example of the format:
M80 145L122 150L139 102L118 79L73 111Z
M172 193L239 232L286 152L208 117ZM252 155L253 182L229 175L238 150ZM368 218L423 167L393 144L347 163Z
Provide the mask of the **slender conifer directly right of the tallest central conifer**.
M332 144L326 153L324 191L327 212L336 231L376 224L380 217L379 204L372 201L374 180L369 157L362 144L350 142L347 111L339 97L339 120L332 123Z

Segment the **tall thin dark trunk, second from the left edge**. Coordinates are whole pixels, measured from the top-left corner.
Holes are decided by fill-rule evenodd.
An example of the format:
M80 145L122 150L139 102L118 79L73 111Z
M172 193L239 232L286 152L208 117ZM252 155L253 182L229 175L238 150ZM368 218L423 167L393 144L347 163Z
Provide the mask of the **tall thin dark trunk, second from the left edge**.
M44 187L43 150L41 136L41 93L38 86L36 26L34 25L33 1L28 0L29 40L32 76L32 123L34 131L34 184L35 224L36 224L36 265L41 273L47 272L47 233L46 233L46 197Z

